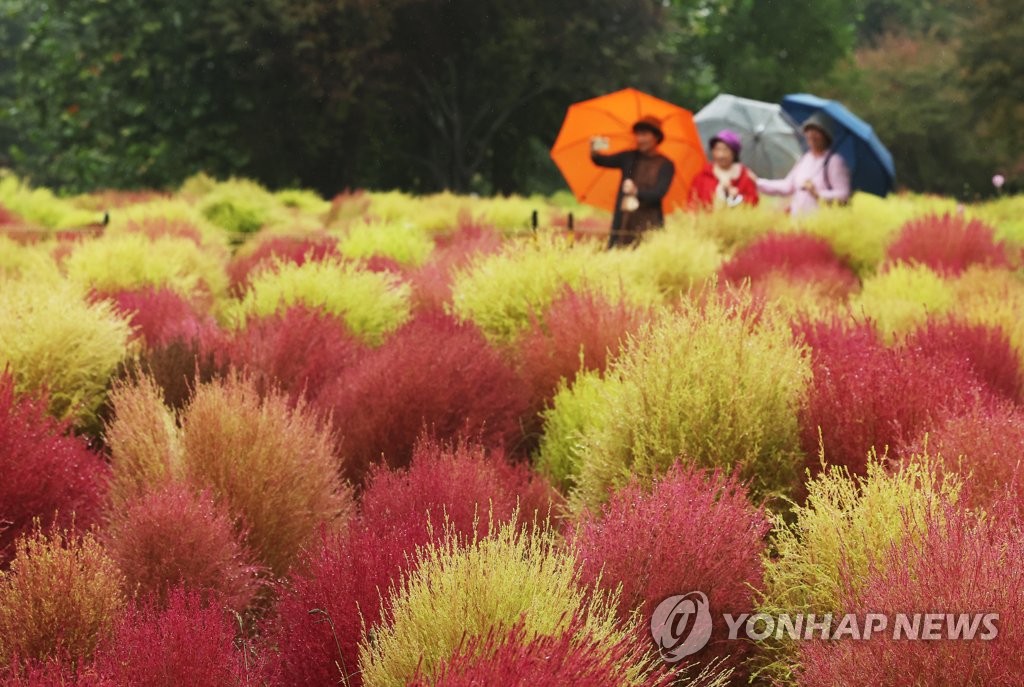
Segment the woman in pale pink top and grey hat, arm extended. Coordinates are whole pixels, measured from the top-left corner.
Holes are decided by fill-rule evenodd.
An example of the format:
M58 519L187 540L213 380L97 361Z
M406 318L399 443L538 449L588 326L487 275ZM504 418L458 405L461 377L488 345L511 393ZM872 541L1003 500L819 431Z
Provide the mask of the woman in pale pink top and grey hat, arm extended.
M850 169L843 157L831 149L836 124L824 113L815 113L804 122L808 151L784 179L758 179L765 196L790 197L793 216L813 212L820 202L846 203L850 200Z

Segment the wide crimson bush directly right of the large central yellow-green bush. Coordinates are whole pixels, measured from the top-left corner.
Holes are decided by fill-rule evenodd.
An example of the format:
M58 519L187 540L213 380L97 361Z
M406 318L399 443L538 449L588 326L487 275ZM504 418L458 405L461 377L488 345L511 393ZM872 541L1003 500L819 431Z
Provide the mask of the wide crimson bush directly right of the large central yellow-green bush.
M992 394L967 360L948 351L886 347L868 324L803 324L814 373L800 414L808 467L826 462L864 474L867 453L916 438L940 414L964 412ZM820 434L819 434L820 432Z

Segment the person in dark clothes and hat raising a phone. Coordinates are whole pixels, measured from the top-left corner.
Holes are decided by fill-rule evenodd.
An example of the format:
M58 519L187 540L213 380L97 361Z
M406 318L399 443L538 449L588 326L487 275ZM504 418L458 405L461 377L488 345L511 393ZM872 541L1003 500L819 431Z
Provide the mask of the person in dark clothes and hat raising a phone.
M591 139L590 158L598 167L620 169L623 181L615 199L608 248L628 246L644 231L665 225L662 201L669 192L676 167L657 152L665 140L662 122L655 117L643 117L633 125L636 147L606 155L607 139Z

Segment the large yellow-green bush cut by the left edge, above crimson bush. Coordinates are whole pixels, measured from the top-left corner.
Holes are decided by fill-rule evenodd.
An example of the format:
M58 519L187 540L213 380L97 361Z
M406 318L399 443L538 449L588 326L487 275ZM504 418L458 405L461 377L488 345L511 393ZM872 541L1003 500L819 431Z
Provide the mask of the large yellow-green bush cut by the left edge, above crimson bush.
M92 427L130 333L110 303L66 282L0 283L0 369L19 393L46 390L54 417Z

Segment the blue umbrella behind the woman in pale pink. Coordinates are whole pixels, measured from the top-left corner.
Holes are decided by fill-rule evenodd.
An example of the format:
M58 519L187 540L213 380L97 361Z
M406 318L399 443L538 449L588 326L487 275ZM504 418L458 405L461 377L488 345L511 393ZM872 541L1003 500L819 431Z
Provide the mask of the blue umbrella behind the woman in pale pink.
M853 188L883 198L892 190L896 178L893 156L867 122L841 102L809 93L786 95L782 98L782 110L798 122L804 122L818 112L830 117L836 122L833 151L843 156L850 168Z

